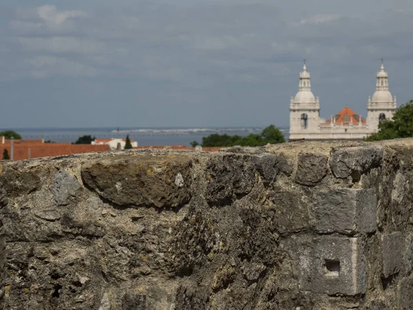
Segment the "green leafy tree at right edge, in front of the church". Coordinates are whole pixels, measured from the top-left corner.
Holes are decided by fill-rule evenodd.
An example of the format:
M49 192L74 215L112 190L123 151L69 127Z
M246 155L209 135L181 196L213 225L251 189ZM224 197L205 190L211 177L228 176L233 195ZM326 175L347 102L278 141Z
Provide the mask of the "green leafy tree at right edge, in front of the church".
M410 100L396 109L392 121L379 123L379 132L371 134L366 141L410 138L413 136L413 101Z

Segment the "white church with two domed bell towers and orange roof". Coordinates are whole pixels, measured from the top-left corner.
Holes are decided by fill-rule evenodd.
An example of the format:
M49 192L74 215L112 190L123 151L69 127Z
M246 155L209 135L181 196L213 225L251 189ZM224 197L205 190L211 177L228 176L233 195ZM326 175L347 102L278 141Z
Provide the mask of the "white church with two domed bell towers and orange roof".
M303 72L299 74L299 91L290 101L290 141L294 140L361 140L377 132L379 122L392 119L396 110L396 96L389 91L388 74L377 73L376 92L368 97L367 119L350 107L344 107L327 121L320 117L319 97L311 92L310 73L304 61Z

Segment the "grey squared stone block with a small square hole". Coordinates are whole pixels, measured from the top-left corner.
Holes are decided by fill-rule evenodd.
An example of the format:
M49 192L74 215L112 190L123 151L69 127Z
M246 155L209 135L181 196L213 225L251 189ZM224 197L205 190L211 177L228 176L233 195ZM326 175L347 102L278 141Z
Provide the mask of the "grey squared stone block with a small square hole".
M354 296L366 292L364 243L359 238L332 236L299 245L299 287L303 291Z

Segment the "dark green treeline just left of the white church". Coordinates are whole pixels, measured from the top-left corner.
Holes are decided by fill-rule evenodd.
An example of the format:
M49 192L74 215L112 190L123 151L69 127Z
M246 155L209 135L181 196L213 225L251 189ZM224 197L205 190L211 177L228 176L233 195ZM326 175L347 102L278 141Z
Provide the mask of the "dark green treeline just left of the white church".
M240 146L261 146L268 143L283 143L285 142L282 132L274 125L265 127L261 134L248 134L248 136L229 136L228 134L210 134L202 138L202 147L231 147ZM198 141L192 141L191 145L195 147L199 145Z

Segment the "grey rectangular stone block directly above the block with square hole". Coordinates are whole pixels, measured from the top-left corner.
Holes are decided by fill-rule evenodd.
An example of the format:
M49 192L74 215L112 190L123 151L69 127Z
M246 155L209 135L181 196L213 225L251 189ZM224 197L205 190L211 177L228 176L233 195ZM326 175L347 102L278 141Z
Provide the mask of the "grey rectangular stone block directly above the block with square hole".
M319 192L314 205L315 229L345 234L376 230L374 189L335 189Z

